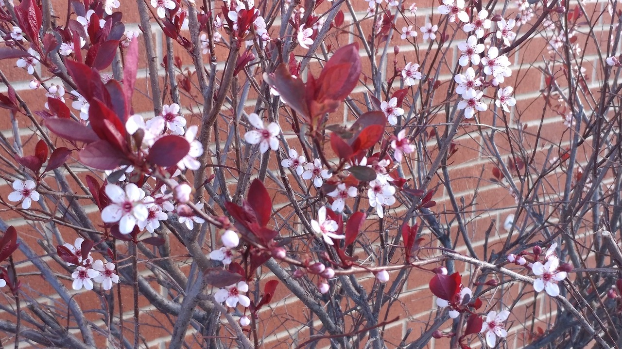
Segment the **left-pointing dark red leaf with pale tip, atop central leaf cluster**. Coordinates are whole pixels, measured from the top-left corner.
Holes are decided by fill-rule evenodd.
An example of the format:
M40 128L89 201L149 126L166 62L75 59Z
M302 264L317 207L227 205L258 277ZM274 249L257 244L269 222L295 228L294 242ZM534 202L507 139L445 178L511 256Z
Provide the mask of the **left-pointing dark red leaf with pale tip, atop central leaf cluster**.
M310 117L305 84L302 79L294 78L285 64L279 65L272 74L264 74L264 80L279 92L281 99L294 111Z

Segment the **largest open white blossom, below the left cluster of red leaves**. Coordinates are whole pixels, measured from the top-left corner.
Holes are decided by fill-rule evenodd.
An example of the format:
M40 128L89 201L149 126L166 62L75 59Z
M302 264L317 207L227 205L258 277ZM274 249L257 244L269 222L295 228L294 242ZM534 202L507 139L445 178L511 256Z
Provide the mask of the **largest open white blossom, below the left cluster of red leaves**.
M134 225L149 217L149 207L144 202L145 192L136 184L126 184L125 189L108 184L105 191L112 203L101 211L101 220L105 223L119 222L122 234L131 233Z

